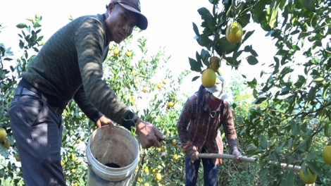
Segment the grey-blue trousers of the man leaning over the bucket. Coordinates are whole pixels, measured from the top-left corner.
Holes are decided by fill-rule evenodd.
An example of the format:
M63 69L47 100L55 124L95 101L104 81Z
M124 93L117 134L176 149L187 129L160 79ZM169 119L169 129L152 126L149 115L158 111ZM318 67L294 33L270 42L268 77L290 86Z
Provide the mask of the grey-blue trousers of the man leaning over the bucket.
M9 118L25 185L65 185L61 116L42 99L21 95L13 98Z

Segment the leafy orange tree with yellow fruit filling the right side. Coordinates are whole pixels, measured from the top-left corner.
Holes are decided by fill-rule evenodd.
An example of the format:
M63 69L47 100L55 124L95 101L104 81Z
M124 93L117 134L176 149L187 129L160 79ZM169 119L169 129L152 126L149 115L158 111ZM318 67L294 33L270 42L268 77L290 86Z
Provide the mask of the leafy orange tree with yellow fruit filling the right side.
M189 58L191 70L201 73L210 68L209 56L216 54L232 69L240 68L244 53L248 55L244 62L258 64L254 43L245 44L254 34L254 30L245 30L251 22L275 40L277 53L268 64L272 73L261 71L261 80L246 82L255 101L242 120L244 128L239 128L246 138L244 147L249 147L244 154L258 158L261 184L302 185L293 171L282 171L280 163L287 163L301 166L306 175L310 168L318 175L317 184L330 185L330 166L321 157L330 141L330 1L209 2L212 12L198 10L203 32L193 23L196 40L204 49L196 52L196 59ZM226 37L226 27L232 23L244 29L236 44Z

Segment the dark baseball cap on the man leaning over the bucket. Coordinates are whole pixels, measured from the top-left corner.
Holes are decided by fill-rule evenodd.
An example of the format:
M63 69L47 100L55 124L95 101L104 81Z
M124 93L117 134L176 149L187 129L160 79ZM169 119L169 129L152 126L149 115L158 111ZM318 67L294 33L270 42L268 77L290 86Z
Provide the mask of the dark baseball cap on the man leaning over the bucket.
M139 0L111 0L111 3L120 4L123 8L135 13L137 15L137 27L142 30L146 30L148 21L147 18L141 13L142 8Z

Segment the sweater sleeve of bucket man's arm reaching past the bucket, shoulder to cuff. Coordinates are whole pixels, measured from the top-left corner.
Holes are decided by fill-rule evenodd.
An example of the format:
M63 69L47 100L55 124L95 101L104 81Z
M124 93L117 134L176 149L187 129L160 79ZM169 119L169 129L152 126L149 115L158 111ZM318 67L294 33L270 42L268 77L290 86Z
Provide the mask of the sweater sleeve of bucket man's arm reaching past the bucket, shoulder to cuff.
M86 20L75 30L75 46L78 66L82 76L85 98L80 97L82 110L98 110L107 118L130 129L135 125L137 116L116 97L113 89L103 80L102 54L106 48L104 25L96 18ZM78 97L78 95L77 95ZM93 106L94 108L85 108Z

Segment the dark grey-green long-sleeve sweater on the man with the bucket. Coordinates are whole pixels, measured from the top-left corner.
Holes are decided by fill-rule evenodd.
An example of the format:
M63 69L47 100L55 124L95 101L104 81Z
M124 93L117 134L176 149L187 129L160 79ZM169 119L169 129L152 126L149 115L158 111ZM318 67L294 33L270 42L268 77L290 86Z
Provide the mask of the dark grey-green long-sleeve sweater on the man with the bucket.
M135 120L130 109L102 80L108 53L102 15L82 16L58 30L30 63L23 78L40 91L68 103L75 99L92 120L111 118L120 125Z

